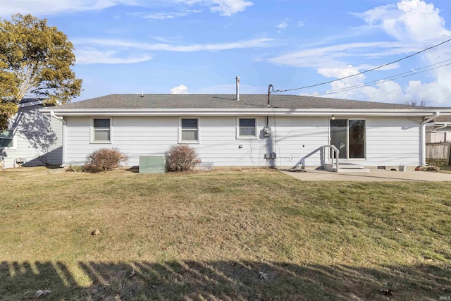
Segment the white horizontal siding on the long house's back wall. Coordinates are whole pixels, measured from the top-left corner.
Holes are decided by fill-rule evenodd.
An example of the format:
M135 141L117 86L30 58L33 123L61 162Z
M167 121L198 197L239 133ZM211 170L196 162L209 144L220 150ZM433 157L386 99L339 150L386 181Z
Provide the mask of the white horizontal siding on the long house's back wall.
M241 117L240 117L241 118ZM242 117L249 118L249 117ZM111 147L128 154L128 165L137 166L139 156L161 156L179 142L180 118L114 117ZM187 118L191 119L191 118ZM352 116L365 119L366 158L352 159L364 166L419 164L421 118ZM82 164L87 154L100 146L89 141L90 117L66 117L66 163ZM321 166L322 146L329 144L329 117L271 116L271 137L237 139L236 116L198 119L201 143L193 144L203 162L214 166L268 166L265 154L276 152L277 167ZM266 127L266 118L256 118L256 134ZM327 156L326 156L327 157ZM342 159L340 162L345 162Z

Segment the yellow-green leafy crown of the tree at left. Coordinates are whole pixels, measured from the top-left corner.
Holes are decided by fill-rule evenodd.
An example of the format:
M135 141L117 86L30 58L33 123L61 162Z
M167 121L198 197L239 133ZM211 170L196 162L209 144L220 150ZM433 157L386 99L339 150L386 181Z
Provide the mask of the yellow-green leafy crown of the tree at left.
M20 13L11 22L0 18L0 106L17 106L25 95L48 104L70 102L82 86L71 69L74 63L73 44L47 19ZM1 109L0 118L4 112L11 111Z

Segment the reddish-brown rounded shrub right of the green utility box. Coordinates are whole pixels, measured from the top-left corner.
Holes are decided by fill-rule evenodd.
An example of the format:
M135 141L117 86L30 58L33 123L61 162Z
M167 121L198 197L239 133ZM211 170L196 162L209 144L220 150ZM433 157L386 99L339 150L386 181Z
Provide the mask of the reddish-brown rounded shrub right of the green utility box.
M201 163L196 150L188 145L173 145L164 155L168 171L189 171Z

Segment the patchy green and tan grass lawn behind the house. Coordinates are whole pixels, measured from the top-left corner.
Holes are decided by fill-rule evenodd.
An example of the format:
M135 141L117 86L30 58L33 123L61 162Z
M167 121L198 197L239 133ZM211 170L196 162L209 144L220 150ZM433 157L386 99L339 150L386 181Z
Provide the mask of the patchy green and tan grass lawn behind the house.
M451 296L450 183L46 168L0 183L1 300Z

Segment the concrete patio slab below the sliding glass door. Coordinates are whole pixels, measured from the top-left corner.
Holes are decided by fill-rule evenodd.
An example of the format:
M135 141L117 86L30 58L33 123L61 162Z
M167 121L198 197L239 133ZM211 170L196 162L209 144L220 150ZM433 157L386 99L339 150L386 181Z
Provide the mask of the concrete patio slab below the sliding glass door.
M304 171L282 171L283 173L304 181L335 180L335 181L416 181L416 182L451 182L451 173L437 171L388 171L373 169L369 173L333 173L330 171L308 169Z

